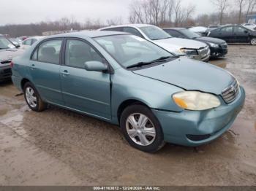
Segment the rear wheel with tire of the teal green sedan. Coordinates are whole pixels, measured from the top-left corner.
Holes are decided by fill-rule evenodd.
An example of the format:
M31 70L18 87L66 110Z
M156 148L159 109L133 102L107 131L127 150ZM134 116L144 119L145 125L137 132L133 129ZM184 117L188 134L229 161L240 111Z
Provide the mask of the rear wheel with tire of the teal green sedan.
M42 101L36 87L31 82L26 82L23 87L23 93L29 108L34 112L42 112L46 109L47 104Z

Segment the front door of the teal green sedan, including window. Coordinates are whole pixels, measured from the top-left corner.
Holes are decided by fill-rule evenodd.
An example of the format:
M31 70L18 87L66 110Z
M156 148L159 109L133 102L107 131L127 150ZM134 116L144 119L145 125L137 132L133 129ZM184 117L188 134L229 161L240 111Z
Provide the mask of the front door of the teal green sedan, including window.
M64 52L61 88L65 106L110 120L110 74L86 71L84 65L87 61L106 63L105 59L81 39L67 39Z

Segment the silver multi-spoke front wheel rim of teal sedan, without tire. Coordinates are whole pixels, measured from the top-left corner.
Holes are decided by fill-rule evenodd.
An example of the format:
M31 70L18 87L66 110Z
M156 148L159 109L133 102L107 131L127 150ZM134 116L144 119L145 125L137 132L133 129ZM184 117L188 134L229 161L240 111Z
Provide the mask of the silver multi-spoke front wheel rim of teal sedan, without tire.
M127 117L126 129L129 138L141 146L148 146L156 139L154 124L144 114L130 114Z

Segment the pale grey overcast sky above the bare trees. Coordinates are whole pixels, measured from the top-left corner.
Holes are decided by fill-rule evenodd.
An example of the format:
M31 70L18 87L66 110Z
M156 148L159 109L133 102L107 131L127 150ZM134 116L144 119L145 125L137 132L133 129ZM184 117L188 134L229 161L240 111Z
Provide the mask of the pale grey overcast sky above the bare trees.
M105 22L122 17L127 23L129 4L132 0L1 0L0 26L5 24L37 23L75 17L84 22L86 18ZM184 4L196 5L195 15L213 12L210 0L183 0Z

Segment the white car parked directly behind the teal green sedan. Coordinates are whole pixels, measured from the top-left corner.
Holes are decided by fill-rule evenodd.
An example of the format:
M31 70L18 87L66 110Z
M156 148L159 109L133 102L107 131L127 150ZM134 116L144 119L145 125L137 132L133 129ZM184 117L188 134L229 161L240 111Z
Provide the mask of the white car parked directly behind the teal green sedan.
M190 39L173 38L161 28L146 24L129 24L100 28L99 31L121 31L147 39L176 55L187 55L199 61L208 61L210 49L207 44Z

